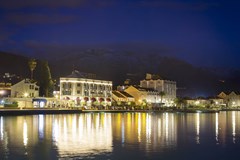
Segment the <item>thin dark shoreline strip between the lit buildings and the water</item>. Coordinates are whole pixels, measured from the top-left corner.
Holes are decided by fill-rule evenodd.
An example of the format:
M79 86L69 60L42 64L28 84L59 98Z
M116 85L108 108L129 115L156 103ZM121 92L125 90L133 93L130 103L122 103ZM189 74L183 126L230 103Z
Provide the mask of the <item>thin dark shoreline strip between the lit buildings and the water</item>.
M38 114L78 114L78 113L219 113L220 111L240 111L239 109L223 110L81 110L81 109L3 109L0 116L38 115Z

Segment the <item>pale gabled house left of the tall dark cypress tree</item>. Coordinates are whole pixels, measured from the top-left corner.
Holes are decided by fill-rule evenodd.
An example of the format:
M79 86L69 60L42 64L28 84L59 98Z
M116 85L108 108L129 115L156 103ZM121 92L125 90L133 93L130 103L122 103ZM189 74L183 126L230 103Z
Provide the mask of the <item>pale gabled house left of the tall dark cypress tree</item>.
M24 79L11 86L11 97L38 97L39 86L30 79Z

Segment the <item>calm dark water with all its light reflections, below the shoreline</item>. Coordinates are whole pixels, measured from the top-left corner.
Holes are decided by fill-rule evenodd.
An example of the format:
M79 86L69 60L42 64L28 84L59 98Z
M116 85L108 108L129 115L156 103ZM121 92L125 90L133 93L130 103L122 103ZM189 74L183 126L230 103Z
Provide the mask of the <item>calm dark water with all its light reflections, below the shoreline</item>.
M240 112L0 116L0 159L240 158Z

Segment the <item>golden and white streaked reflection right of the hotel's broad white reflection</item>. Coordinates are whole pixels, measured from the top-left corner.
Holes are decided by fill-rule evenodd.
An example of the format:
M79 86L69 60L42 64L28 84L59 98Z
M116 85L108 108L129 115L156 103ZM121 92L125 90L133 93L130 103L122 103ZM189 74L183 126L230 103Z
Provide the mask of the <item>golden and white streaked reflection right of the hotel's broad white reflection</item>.
M124 147L137 147L132 144L138 142L146 151L159 151L177 144L177 119L173 113L126 113L112 118L118 124L112 128L114 139Z

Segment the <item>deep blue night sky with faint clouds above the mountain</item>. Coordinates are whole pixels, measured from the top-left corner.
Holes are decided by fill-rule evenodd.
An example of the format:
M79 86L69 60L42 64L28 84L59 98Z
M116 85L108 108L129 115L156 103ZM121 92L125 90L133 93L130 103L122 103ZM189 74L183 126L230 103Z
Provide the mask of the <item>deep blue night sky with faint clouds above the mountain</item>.
M0 50L39 56L139 44L197 66L238 68L239 9L237 0L1 0Z

